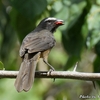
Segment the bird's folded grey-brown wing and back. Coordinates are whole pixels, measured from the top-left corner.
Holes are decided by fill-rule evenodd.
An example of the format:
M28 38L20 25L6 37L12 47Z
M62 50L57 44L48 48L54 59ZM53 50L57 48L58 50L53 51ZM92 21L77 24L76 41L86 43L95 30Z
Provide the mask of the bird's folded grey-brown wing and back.
M20 48L20 56L25 52L35 53L52 48L55 45L53 35L48 31L36 32L35 34L28 34L23 40Z

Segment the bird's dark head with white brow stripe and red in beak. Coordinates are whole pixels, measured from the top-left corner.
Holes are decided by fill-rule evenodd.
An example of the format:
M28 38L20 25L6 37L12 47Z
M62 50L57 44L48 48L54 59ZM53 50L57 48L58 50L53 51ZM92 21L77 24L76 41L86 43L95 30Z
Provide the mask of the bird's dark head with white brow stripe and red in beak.
M54 17L48 17L43 19L40 24L38 25L41 29L47 29L50 32L54 32L57 27L63 25L63 20L54 18Z

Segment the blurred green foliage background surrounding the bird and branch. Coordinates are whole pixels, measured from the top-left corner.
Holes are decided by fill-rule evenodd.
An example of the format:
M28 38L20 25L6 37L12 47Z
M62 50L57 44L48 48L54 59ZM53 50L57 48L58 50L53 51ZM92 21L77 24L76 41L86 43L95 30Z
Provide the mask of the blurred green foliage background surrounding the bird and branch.
M62 71L73 70L78 61L77 71L100 72L100 0L0 0L0 69L19 69L22 39L49 16L65 23L54 34L57 43L49 63ZM37 70L48 67L40 60ZM27 93L17 93L14 81L0 79L0 100L81 100L80 95L97 96L89 81L35 79ZM97 82L98 92L99 85Z

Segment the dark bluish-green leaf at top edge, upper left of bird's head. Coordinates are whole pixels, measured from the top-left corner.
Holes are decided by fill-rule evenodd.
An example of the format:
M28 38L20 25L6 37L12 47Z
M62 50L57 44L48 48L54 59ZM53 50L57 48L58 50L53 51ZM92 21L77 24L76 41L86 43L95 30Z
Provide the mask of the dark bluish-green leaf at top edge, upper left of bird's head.
M47 6L46 0L11 0L16 10L28 19L34 19L40 15Z

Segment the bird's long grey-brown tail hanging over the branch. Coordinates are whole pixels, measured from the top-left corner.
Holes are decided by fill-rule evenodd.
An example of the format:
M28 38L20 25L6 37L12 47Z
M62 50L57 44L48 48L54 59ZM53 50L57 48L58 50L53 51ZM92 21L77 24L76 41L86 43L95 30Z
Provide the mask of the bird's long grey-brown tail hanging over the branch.
M19 73L15 81L15 88L18 92L27 92L32 87L35 75L37 61L40 57L40 52L35 55L25 54L21 63Z

